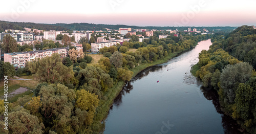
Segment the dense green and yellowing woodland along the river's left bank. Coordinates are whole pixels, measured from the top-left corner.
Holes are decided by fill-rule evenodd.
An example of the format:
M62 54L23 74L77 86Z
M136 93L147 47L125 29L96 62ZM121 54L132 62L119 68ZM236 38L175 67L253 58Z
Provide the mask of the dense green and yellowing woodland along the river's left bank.
M102 48L100 52L104 57L95 64L90 63L92 57L84 56L83 52L74 48L70 48L66 58L53 54L29 62L26 68L17 71L14 68L8 69L9 64L6 64L3 69L0 68L8 70L9 74L4 75L33 74L40 82L32 97L20 97L17 106L9 105L8 132L102 132L105 126L103 120L113 100L124 82L131 80L136 68L163 59L166 61L174 53L193 48L198 40L210 37L211 34L159 39L155 35L139 42L139 38L133 36L129 42L123 42L122 46L117 44ZM86 42L83 45L88 46ZM137 48L137 51L130 52L129 48ZM4 105L3 100L0 105ZM4 110L0 109L1 117ZM1 128L2 132L5 131L4 127Z

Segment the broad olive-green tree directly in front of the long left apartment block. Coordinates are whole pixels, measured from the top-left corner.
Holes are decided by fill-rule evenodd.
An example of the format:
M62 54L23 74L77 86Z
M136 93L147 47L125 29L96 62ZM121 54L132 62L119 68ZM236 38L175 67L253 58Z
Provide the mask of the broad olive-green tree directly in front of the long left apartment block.
M73 67L67 67L61 61L60 55L54 53L52 56L29 62L28 67L34 77L41 82L70 83L70 80L74 77Z

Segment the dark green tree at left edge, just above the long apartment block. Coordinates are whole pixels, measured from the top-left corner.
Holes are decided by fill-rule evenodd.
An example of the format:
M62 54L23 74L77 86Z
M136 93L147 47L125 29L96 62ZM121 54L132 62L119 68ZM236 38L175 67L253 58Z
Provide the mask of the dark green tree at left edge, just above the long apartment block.
M18 52L18 45L14 37L9 34L5 35L3 38L2 49L5 53Z

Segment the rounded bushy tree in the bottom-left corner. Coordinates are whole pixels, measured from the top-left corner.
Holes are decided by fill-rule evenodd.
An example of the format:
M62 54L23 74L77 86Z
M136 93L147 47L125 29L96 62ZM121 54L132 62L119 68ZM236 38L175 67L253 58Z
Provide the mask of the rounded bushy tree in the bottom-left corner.
M9 133L44 133L44 124L25 109L10 113L8 119Z

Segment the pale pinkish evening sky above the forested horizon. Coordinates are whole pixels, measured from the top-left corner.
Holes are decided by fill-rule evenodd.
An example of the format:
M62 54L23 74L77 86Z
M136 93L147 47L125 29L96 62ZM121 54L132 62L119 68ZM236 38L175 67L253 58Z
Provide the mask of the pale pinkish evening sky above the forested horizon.
M230 0L12 0L2 1L0 20L132 26L256 25L256 1Z

